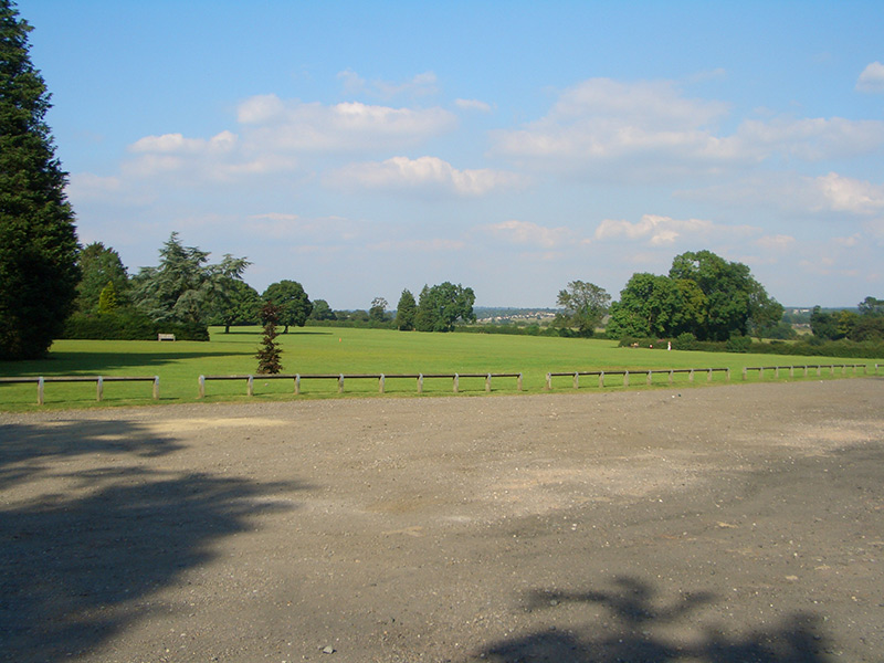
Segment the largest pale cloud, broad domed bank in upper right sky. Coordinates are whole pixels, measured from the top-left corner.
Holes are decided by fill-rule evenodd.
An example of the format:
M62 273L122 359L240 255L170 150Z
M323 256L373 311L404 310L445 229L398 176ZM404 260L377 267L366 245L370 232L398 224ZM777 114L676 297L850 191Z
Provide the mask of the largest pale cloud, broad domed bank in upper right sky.
M685 97L673 82L593 78L565 91L546 117L493 133L492 154L580 178L662 182L884 146L880 120L772 117L725 135L717 123L727 113L722 102Z

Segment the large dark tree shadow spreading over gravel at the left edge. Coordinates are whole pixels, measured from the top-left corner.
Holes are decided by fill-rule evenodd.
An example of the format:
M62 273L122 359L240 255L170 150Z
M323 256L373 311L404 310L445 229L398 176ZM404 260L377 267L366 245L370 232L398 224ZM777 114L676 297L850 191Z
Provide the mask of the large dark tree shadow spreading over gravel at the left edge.
M288 496L303 485L138 466L176 449L125 422L0 429L0 660L94 650L168 611L155 593L211 560L218 539L296 508ZM65 459L82 454L92 470L66 472Z

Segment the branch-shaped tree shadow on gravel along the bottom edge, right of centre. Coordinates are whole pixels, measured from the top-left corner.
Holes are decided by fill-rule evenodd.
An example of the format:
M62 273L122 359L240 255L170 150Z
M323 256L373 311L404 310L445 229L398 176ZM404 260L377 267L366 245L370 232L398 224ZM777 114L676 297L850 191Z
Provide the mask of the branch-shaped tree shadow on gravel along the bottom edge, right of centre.
M615 578L610 591L580 593L536 591L527 597L528 610L550 610L559 604L598 604L609 612L603 623L568 632L555 628L494 643L480 657L494 663L824 663L828 644L818 619L796 613L774 628L725 634L712 625L696 641L682 644L654 630L670 624L691 625L697 608L715 602L709 593L685 594L670 604L656 600L652 585L635 578Z

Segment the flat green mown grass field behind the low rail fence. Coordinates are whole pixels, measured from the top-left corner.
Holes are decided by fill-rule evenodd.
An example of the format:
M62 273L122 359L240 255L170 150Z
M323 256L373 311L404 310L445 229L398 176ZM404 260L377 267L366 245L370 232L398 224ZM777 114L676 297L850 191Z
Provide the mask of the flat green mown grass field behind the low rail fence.
M50 357L40 361L0 362L0 377L27 376L159 376L160 403L199 400L200 375L249 375L254 372L255 351L261 330L234 328L224 334L213 328L209 343L95 341L59 340ZM505 336L485 334L419 334L387 329L297 328L278 337L283 347L285 373L486 373L522 372L524 391L546 390L547 372L582 370L630 371L670 368L730 368L732 381L741 380L743 367L790 366L804 364L870 364L875 359L838 359L827 357L778 357L776 355L737 355L719 352L660 351L646 348L619 348L612 340ZM878 360L878 362L881 362ZM849 372L849 375L853 375ZM860 372L859 375L862 375ZM802 379L798 371L796 379ZM815 379L815 372L811 372ZM836 377L841 371L836 371ZM823 371L823 377L830 377ZM769 380L769 372L765 379ZM757 371L749 381L758 380ZM788 371L780 379L789 379ZM715 373L715 382L724 382ZM705 385L705 375L696 385ZM667 386L669 377L654 377L654 385ZM690 386L686 373L676 373L675 385ZM515 378L492 382L494 393L515 393ZM632 388L646 388L644 376L631 380ZM585 378L581 388L598 390L597 378ZM606 389L622 388L622 378L607 380ZM571 378L555 378L554 391L570 390ZM207 382L206 401L245 400L245 380ZM387 379L385 390L392 396L415 396L414 379ZM294 399L291 380L255 378L255 400ZM462 378L460 391L465 394L485 392L482 378ZM345 382L344 398L378 393L377 380L350 379ZM452 393L450 379L427 379L424 396ZM83 408L96 406L95 383L46 383L44 408ZM340 398L335 380L303 380L297 398ZM151 387L147 382L109 382L104 386L105 406L150 404ZM0 385L0 409L36 409L36 386Z

